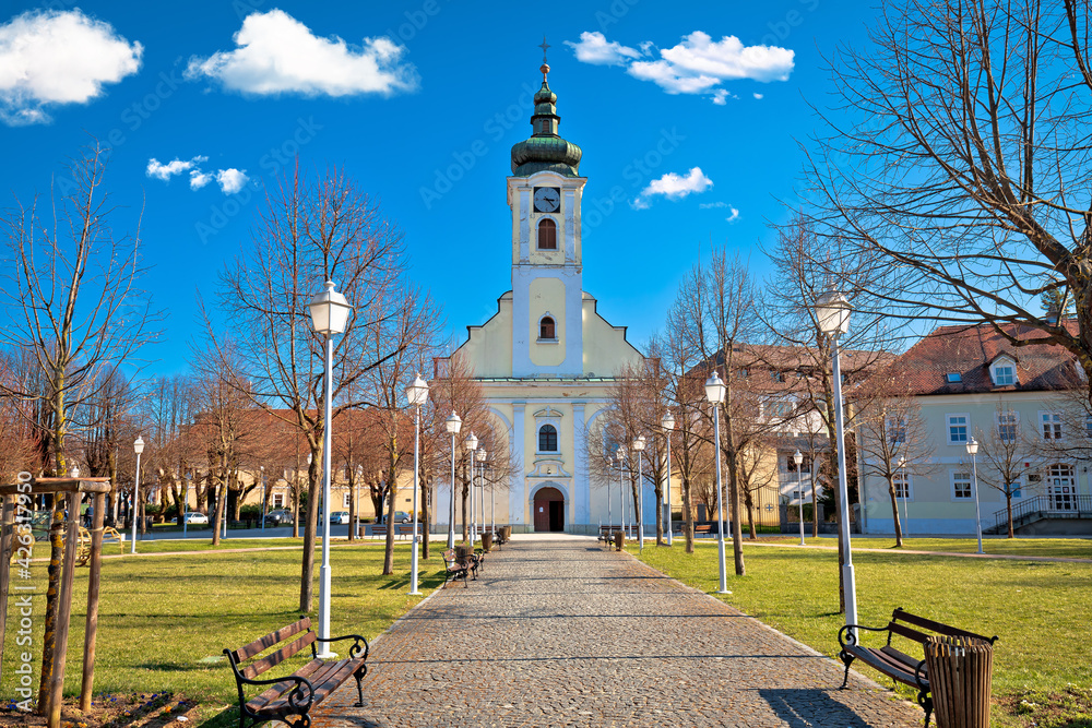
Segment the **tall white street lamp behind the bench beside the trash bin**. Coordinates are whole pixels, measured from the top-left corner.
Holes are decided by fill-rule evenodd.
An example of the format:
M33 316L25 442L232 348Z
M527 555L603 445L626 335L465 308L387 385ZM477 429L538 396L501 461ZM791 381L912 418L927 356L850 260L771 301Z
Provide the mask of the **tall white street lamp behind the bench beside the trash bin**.
M845 623L857 623L857 585L853 575L853 554L850 550L850 487L845 476L845 431L842 414L842 367L838 336L850 331L850 302L845 296L831 289L816 300L816 321L819 330L830 337L834 385L834 435L838 447L839 516L842 522L842 588L845 601ZM856 639L855 630L854 639Z

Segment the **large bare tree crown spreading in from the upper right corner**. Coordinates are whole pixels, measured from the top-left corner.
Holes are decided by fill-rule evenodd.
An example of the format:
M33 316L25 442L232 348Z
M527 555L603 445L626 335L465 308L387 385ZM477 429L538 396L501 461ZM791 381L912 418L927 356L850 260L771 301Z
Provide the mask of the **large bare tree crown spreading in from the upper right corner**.
M1092 395L1089 3L889 3L833 59L836 111L809 158L816 235L871 261L858 310L1034 330ZM1076 326L1043 296L1072 299ZM1022 326L1004 327L1018 323ZM1040 339L1041 341L1041 339Z

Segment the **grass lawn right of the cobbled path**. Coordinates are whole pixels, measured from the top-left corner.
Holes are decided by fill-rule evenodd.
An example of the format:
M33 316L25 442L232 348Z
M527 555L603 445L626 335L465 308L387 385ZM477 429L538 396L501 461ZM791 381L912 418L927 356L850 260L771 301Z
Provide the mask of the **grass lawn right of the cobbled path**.
M636 548L628 550L636 554ZM732 594L714 596L834 657L843 624L838 613L836 552L745 545L744 557L747 575L737 577L728 553ZM717 587L715 544L699 542L692 556L681 544L673 549L645 548L644 561L703 592ZM999 635L994 653L995 699L1028 691L1060 695L1070 684L1092 684L1088 671L1092 563L873 552L855 553L853 562L859 623L882 626L892 609L903 607L972 632ZM867 637L865 643L870 644ZM912 652L905 642L903 648L921 656L919 649ZM863 671L891 682L874 670ZM903 692L910 694L909 689ZM1002 703L995 712L1002 709ZM997 716L995 725L1032 725L1002 712L1008 715Z

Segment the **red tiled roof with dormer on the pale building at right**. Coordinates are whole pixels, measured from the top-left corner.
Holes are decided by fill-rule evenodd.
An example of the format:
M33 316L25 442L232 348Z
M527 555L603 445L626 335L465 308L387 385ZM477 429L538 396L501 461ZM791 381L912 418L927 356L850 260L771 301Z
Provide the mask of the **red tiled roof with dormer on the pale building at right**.
M1076 331L1076 322L1066 322ZM1014 346L989 324L940 326L895 359L890 374L905 382L910 394L971 394L984 392L1042 392L1083 386L1076 358L1046 334L1022 324L1004 324L1006 333L1020 342ZM1017 384L995 386L989 365L999 356L1017 362ZM949 382L949 373L962 381Z

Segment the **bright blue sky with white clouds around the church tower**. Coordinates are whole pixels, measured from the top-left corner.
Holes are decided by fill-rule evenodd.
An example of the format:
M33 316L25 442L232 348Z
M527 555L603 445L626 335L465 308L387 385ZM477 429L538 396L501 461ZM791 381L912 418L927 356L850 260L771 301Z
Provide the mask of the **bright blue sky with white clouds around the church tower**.
M197 293L214 297L263 184L297 153L381 201L454 335L488 319L510 284L505 177L531 133L543 34L560 133L584 152L584 289L640 345L710 241L765 274L759 247L799 184L797 141L818 124L808 103L830 100L822 56L864 44L875 13L833 0L57 0L3 12L2 206L48 192L88 134L114 147L115 227L143 208L144 283L168 311L143 353L157 373L185 371Z

